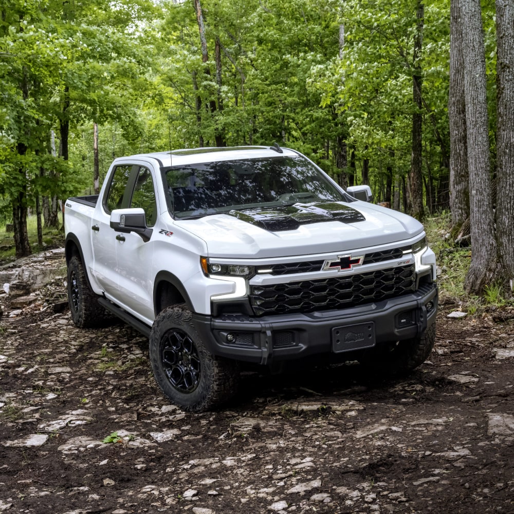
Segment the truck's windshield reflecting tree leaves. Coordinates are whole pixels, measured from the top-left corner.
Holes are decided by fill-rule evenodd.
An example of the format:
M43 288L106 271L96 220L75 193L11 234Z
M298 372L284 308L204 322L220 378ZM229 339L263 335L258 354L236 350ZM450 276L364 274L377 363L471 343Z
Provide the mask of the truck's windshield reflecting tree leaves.
M166 171L175 218L273 208L344 195L308 160L268 157L190 164Z

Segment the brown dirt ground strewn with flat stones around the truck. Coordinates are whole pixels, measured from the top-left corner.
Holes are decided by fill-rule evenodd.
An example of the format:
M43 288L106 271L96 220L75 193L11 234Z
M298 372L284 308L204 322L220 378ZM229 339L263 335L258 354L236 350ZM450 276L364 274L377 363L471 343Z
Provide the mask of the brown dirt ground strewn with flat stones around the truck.
M514 512L511 310L442 305L407 379L248 372L186 414L138 333L71 323L64 274L61 251L0 268L0 512Z

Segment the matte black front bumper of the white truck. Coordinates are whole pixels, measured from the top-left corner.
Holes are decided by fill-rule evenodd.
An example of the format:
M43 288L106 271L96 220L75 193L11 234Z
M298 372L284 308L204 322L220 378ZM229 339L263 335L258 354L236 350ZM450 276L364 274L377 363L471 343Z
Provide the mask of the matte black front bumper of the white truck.
M377 345L420 336L435 322L437 298L437 285L433 283L408 295L340 310L260 318L194 314L193 322L210 353L267 364L369 347L354 337L364 325L373 325L372 344ZM358 328L352 332L354 325ZM335 334L340 329L352 337L337 340L336 344Z

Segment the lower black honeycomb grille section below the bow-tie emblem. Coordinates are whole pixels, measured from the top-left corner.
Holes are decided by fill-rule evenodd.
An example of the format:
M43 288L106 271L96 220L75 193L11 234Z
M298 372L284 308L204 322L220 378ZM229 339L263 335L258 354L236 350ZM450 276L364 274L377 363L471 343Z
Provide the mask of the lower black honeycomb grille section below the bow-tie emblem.
M414 265L287 284L252 285L250 303L256 316L311 313L378 302L415 290Z

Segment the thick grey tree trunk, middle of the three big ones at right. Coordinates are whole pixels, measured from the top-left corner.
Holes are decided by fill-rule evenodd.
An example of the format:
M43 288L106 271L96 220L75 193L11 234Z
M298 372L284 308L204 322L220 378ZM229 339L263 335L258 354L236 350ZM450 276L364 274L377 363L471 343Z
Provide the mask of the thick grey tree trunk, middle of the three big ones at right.
M469 293L480 294L494 279L498 268L489 176L489 127L480 0L462 0L461 14L471 222L471 264L464 288Z

